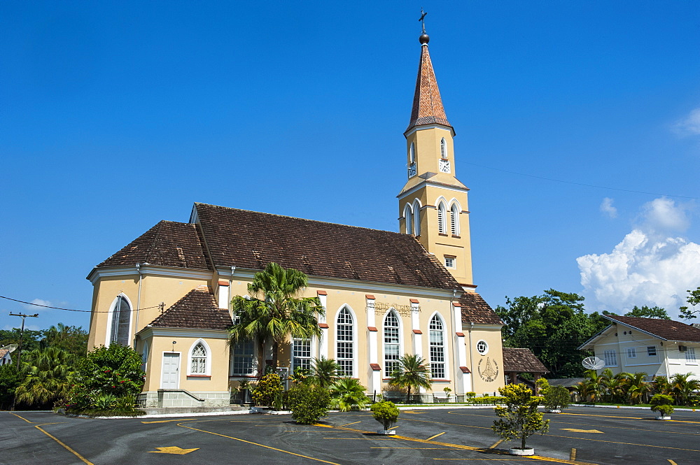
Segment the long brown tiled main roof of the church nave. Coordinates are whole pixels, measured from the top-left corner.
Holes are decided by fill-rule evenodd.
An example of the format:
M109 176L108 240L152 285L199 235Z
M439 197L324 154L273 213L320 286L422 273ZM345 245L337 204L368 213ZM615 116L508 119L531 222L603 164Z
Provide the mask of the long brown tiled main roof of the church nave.
M409 234L195 203L215 266L269 262L310 276L461 289Z

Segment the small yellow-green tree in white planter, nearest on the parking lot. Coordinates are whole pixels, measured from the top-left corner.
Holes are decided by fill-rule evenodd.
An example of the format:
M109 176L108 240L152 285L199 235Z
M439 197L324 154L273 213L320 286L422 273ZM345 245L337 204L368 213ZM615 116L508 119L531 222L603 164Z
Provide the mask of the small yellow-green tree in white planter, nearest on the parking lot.
M549 420L544 420L537 410L539 399L525 385L507 385L498 392L503 396L505 407L494 408L499 418L494 420L491 429L506 441L520 439L520 447L510 449L512 455L533 455L534 450L525 447L525 440L535 433L549 431Z

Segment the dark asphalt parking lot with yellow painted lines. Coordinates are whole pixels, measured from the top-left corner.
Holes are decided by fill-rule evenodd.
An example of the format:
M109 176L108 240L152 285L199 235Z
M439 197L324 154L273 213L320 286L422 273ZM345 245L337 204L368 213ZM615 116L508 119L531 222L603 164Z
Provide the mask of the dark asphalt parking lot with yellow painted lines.
M512 464L700 463L700 412L654 420L650 410L569 408L531 436L538 457L505 453L491 409L402 410L396 436L370 413L331 413L318 425L288 415L85 419L0 412L0 464ZM517 445L517 444L510 444Z

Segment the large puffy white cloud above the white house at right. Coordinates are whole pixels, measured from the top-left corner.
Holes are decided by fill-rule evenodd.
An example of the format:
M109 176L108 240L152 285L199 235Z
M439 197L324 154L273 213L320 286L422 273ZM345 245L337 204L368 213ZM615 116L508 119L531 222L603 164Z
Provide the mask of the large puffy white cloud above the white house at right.
M687 207L654 199L638 222L612 252L576 259L587 306L615 313L660 306L677 316L687 289L700 285L700 245L675 236L689 227Z

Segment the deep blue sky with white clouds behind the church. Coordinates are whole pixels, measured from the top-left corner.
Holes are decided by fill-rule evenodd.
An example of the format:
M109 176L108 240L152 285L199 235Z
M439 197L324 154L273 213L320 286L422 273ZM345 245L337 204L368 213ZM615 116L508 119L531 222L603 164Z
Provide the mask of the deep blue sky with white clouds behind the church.
M421 6L486 301L675 314L700 285L696 1L3 1L0 295L89 309L92 267L195 201L397 230Z

